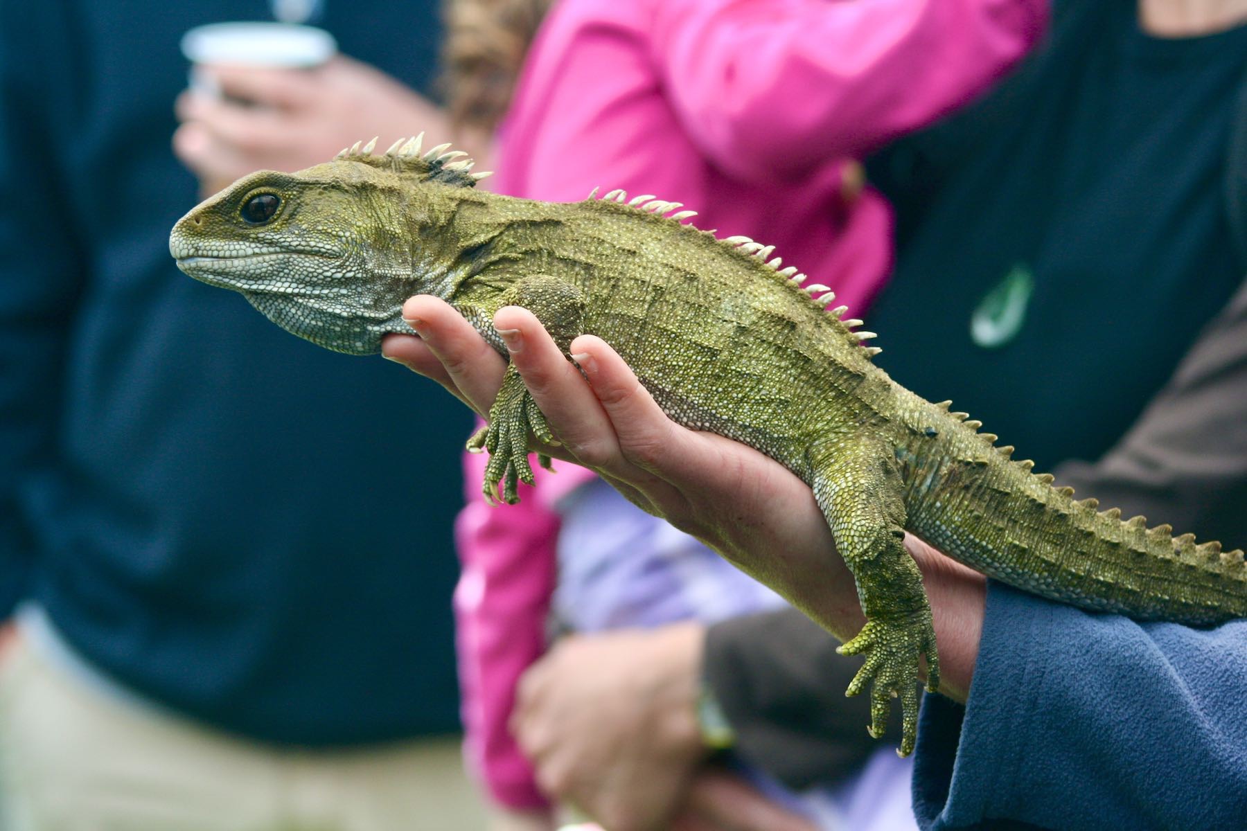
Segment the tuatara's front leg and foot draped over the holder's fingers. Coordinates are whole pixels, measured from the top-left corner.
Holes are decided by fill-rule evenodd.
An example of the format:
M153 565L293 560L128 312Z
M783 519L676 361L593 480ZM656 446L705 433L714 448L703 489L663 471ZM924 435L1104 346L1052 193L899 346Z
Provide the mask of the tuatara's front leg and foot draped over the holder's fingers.
M569 354L571 341L582 331L585 298L576 285L566 280L545 274L526 277L504 292L499 300L495 308L518 305L536 315L565 355ZM509 364L503 375L503 386L489 409L489 422L468 440L470 452L489 451L489 465L485 466L485 481L481 485L489 502L498 502L500 482L503 501L508 505L519 502L519 482L532 485L530 436L536 436L544 444L554 441L545 415L524 386L515 365ZM550 470L549 456L539 453L537 461Z

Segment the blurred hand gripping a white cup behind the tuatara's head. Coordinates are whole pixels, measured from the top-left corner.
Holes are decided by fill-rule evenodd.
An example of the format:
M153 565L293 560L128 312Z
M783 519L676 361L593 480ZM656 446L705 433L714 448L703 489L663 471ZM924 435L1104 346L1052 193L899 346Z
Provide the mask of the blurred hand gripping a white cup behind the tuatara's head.
M435 105L344 55L309 70L200 71L219 85L222 96L195 90L178 96L182 126L173 133L173 152L200 177L206 196L253 171L289 172L328 162L343 147L373 136L387 146L421 131L435 140L425 146L450 138Z

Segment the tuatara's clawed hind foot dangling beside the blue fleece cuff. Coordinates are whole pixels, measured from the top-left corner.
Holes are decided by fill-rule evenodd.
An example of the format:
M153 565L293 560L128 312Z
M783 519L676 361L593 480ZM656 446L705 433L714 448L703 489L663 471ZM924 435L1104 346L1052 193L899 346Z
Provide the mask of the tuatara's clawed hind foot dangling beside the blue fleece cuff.
M865 663L853 677L845 695L857 695L870 685L870 735L878 739L888 723L889 699L900 699L903 728L902 756L914 751L918 735L918 659L927 654L927 690L939 686L939 655L935 652L935 629L929 609L897 619L867 620L855 638L837 652L842 655L865 655Z

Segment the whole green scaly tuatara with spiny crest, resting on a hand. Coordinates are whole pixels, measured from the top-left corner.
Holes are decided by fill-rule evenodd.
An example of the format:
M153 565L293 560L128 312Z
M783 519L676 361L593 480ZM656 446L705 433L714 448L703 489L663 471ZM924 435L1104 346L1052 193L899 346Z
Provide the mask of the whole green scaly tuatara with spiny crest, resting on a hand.
M173 228L178 267L355 355L378 353L387 333L409 334L400 306L413 294L449 302L504 356L491 323L504 305L530 309L565 353L582 333L605 339L675 421L756 447L813 490L867 617L842 647L865 655L848 691L872 683L874 734L899 696L902 755L914 745L923 655L927 688L939 683L905 529L984 574L1082 608L1192 625L1247 617L1241 551L1173 538L1142 517L1122 522L1010 461L1013 449L994 446L979 422L875 368L877 350L860 343L873 335L840 320L843 306L827 311L826 287L802 288L804 275L768 262L769 248L718 240L652 197L551 204L483 193L470 162L445 146L372 151L357 145L299 173L239 179ZM271 217L253 209L257 196L276 197ZM469 441L491 455L490 500L501 486L514 502L516 483L532 481L531 435L552 437L509 366L489 426Z

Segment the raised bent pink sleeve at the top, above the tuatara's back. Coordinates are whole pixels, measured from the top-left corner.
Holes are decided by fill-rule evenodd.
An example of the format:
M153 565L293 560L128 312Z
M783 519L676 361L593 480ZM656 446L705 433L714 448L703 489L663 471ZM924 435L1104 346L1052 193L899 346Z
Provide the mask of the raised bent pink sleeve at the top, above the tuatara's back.
M860 158L983 91L1046 0L663 0L655 61L685 130L746 179Z

